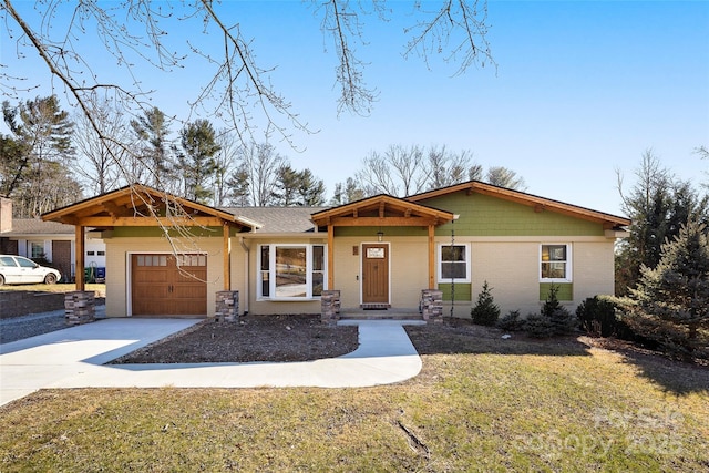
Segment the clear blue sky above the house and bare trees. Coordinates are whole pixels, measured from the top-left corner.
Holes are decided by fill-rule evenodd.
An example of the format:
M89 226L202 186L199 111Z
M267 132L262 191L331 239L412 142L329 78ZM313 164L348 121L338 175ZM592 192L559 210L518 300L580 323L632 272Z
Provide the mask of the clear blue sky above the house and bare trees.
M499 66L464 75L443 62L428 70L417 58L404 60L410 9L390 7L388 22L364 18L369 43L358 47L369 63L366 81L378 91L369 116L338 116L336 59L325 51L329 40L311 8L298 1L218 7L227 23L254 38L261 64L278 66L275 89L319 130L294 132L302 152L278 148L294 167L322 178L328 194L354 175L362 157L390 144L469 150L485 168L515 171L532 194L612 214L621 213L616 169L631 185L648 148L678 177L709 183L709 161L692 154L709 146L709 2L491 0L489 41ZM37 62L17 61L9 43L2 37L2 63L48 90ZM94 53L101 51L86 54ZM156 76L145 69L141 79L155 86L155 105L186 119L202 72L188 66Z

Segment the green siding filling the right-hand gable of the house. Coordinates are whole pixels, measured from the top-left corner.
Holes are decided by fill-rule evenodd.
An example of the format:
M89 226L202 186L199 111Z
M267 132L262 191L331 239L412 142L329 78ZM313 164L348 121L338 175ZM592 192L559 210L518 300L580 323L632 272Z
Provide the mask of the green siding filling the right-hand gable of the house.
M603 236L602 224L464 191L434 197L423 205L460 215L455 235L466 236ZM436 227L439 236L451 235L453 224Z

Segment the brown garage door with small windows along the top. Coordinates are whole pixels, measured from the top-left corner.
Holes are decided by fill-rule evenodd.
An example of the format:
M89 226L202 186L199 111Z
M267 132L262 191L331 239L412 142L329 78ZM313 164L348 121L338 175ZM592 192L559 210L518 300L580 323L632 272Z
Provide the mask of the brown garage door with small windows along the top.
M206 255L132 255L134 316L206 316Z

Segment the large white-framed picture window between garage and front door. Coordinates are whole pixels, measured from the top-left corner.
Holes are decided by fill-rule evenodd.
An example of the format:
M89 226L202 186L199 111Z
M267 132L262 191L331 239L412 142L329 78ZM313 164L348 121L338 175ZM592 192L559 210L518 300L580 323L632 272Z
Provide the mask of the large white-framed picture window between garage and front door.
M326 289L325 245L260 245L258 297L273 300L307 300Z

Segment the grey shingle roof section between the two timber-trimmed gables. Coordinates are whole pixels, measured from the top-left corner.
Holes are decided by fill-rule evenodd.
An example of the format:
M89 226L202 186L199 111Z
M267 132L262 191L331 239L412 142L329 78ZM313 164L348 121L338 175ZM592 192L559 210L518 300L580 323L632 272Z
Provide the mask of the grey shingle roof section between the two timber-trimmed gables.
M263 225L256 233L305 233L315 225L310 215L325 207L230 207L223 210Z

